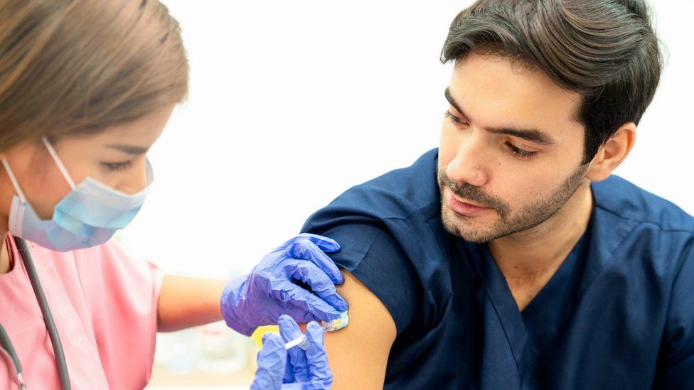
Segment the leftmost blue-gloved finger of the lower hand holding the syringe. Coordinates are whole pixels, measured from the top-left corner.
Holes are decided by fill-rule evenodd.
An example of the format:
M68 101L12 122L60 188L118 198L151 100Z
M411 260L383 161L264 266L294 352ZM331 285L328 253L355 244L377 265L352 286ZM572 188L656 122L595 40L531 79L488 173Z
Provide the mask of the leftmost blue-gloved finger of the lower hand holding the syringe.
M258 369L251 390L281 390L287 350L278 335L266 333L262 337L262 350L258 352Z

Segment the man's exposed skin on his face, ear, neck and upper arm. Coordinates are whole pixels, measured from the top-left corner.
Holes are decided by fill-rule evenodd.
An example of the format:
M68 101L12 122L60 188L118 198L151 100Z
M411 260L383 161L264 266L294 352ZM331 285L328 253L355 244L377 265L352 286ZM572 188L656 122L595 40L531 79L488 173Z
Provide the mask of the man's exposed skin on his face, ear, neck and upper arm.
M572 115L580 96L542 72L472 53L458 61L448 91L450 115L442 124L438 167L444 226L488 244L523 310L584 233L593 207L589 184L606 179L624 161L636 125L621 126L582 166L585 129ZM498 129L533 129L552 142ZM535 154L524 158L518 149ZM453 190L457 200L489 210L455 212ZM353 276L346 276L338 292L350 303L351 321L345 331L326 335L333 388L380 389L395 340L393 318Z

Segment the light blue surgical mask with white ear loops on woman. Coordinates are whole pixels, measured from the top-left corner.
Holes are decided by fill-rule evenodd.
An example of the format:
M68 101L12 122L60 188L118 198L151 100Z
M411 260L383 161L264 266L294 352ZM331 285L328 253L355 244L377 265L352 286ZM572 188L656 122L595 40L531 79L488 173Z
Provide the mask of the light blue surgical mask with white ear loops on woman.
M107 242L137 215L153 180L149 160L145 163L147 187L139 193L127 195L92 178L85 178L82 183L75 185L45 137L43 144L72 190L55 205L52 219L41 220L19 188L9 163L3 159L2 163L17 192L10 207L11 234L54 251L71 251Z

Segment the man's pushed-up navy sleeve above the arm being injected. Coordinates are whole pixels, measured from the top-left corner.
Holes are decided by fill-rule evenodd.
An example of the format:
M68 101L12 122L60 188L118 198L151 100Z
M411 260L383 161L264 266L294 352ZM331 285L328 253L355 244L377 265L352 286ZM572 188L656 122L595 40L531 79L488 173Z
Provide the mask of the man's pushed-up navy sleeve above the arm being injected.
M353 274L388 308L397 335L416 318L421 293L410 260L388 231L377 224L348 223L308 229L336 240L341 250L331 259Z

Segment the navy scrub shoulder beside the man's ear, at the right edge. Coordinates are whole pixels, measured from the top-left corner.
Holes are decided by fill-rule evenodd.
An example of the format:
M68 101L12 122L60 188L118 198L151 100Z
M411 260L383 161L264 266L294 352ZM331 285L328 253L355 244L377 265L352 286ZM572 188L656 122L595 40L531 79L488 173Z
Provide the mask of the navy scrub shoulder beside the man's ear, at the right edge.
M662 197L649 193L629 181L612 175L592 183L595 207L622 220L648 224L663 232L694 234L694 217Z

